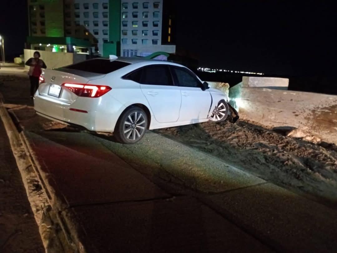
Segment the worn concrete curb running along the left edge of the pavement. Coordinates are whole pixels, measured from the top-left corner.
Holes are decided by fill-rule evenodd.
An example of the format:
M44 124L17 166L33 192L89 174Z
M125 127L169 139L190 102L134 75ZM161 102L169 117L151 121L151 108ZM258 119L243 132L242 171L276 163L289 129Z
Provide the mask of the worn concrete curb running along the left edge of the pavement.
M27 152L28 147L25 146L25 137L17 130L2 101L2 95L0 94L0 118L16 159L45 252L74 252L73 244L65 240L67 234L63 230L59 214L50 204L48 191L46 191L45 184L37 173L37 166Z

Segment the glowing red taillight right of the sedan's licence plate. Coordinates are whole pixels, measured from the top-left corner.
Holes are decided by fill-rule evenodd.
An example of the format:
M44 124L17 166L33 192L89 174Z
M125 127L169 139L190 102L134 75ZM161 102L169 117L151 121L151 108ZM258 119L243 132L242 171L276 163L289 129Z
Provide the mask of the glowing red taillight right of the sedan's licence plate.
M80 97L100 97L111 90L109 86L93 84L63 83L62 86Z

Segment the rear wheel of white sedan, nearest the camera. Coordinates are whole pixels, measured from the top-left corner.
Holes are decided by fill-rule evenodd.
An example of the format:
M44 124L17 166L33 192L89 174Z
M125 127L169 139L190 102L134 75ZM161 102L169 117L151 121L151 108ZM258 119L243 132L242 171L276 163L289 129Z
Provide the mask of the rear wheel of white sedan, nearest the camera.
M121 143L136 143L143 138L147 126L148 119L144 110L139 107L130 107L119 118L114 136Z

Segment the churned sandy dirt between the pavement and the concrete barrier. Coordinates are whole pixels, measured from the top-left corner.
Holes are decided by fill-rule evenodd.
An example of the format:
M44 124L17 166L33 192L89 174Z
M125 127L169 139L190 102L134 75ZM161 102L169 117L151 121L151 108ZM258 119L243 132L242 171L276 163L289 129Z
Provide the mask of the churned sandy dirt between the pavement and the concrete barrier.
M337 203L337 148L245 121L156 130L277 185Z

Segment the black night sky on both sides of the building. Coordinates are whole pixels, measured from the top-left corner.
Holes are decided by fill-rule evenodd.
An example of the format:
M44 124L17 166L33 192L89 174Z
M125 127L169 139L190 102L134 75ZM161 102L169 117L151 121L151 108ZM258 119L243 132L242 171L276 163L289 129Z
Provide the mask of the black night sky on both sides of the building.
M307 1L176 2L176 44L216 67L266 74L331 76L336 72L334 6ZM286 2L286 3L285 3ZM0 34L8 57L23 52L27 1L1 0Z

